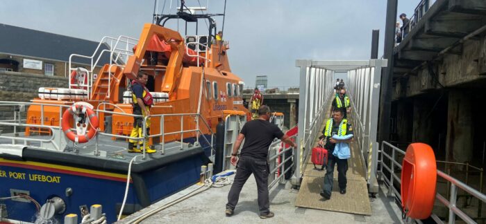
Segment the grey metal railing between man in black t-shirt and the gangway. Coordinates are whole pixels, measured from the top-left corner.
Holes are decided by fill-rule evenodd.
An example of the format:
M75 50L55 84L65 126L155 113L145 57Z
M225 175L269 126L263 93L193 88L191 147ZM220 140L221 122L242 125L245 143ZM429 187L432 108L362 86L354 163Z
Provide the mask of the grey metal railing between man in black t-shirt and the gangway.
M290 140L296 142L297 134L293 136L289 136ZM272 153L272 149L276 148L276 153ZM287 153L287 152L290 152ZM290 146L290 144L285 144L282 140L278 139L272 142L269 146L269 163L271 164L269 170L269 183L268 188L273 187L276 183L285 184L285 174L292 171L292 167L294 167L294 148ZM276 160L278 160L276 162ZM287 165L287 162L291 161L292 163Z

